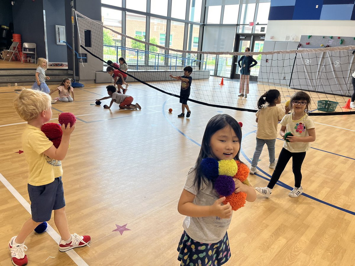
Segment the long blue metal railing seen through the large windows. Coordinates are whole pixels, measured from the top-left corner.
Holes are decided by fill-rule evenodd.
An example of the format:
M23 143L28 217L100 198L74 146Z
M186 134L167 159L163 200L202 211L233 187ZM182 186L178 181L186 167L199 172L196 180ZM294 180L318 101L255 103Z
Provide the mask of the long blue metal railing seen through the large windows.
M136 70L140 67L151 67L154 70L159 70L159 67L164 69L175 70L178 67L192 66L206 70L207 62L197 60L193 57L182 57L178 55L167 55L159 52L145 51L118 45L104 45L104 60L118 62L119 57L125 54L125 60L132 69L135 66ZM193 54L193 56L196 56Z

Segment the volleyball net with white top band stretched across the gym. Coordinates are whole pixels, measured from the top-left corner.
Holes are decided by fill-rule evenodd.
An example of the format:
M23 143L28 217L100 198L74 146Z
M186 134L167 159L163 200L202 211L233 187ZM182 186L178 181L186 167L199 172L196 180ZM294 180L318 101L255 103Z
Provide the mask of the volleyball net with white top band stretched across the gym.
M355 46L261 52L176 50L148 42L145 36L127 36L75 13L79 52L102 61L103 69L108 60L118 62L124 57L129 66L128 76L162 93L180 98L180 82L169 75L183 76L184 67L191 66L192 102L256 112L258 99L269 89L280 91L282 107L295 92L302 90L311 96L310 115L355 113L346 108L353 93ZM115 36L115 45L104 44L110 36ZM250 70L255 78L250 79L249 92L244 91L247 97L239 96L241 68L237 61L243 55L253 56L258 62ZM231 74L236 78L230 78Z

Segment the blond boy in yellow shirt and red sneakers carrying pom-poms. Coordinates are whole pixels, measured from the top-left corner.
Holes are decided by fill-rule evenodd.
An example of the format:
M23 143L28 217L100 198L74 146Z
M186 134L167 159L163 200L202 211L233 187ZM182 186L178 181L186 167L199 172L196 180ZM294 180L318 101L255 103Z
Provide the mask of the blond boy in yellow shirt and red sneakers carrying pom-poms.
M38 90L24 89L13 104L18 115L27 121L22 134L22 148L29 166L27 188L32 217L24 223L20 233L11 238L8 246L13 265L22 266L28 262L24 254L27 250L24 240L40 223L50 220L52 210L55 226L61 236L60 251L87 245L91 238L88 235L70 234L65 215L61 160L67 154L75 124L62 125L62 140L57 149L41 131L42 125L52 117L50 96Z

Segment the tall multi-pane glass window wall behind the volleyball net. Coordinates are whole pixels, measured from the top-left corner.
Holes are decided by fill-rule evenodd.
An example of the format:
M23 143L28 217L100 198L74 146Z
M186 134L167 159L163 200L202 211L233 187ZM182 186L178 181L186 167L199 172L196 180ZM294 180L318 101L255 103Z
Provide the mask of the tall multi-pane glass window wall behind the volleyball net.
M124 24L126 25L125 34L130 37L135 37L136 39L147 41L155 45L166 45L176 50L197 51L199 47L201 49L209 42L206 38L201 40L201 26L190 24L191 22L189 21L207 24L221 24L209 26L215 28L215 31L220 31L220 28L225 26L222 24L236 24L237 33L266 33L268 14L271 5L271 0L149 0L150 7L149 10L147 10L147 0L125 0L125 7L132 10L132 12L125 12L126 16L122 18L124 12L115 9L115 7L122 7L122 0L100 1L102 4L112 6L111 9L102 7L103 25L113 30L110 31L104 29L104 59L116 61L116 58L122 55L126 57L126 61L131 65L155 64L156 66L159 64L169 66L174 65L175 67L185 65L186 63L196 66L198 64L196 60L200 59L201 55L183 54L181 52L160 49L154 45L148 46L139 41L130 39L126 40L115 32L122 32L122 24ZM205 2L207 6L202 7L202 2ZM171 4L171 7L169 7L169 3ZM257 5L258 12L256 13ZM168 10L170 9L171 13L168 13ZM186 12L187 9L189 12ZM208 10L208 12L205 14L204 12L206 10ZM147 17L136 13L136 11L151 13L152 16L149 18L150 24L146 25ZM158 18L158 15L167 18ZM201 21L201 17L204 21ZM222 21L221 17L223 18ZM176 20L183 21L180 22ZM169 22L170 32L168 33L167 25ZM254 26L249 26L249 22L256 22L256 24ZM187 36L185 33L187 33ZM233 35L234 33L231 34L231 36ZM207 36L209 35L207 34ZM167 40L166 38L169 39ZM220 40L220 42L221 41L222 40ZM206 51L207 48L203 49ZM230 49L231 51L233 48L224 47L221 49ZM262 49L262 44L256 44L255 49ZM149 53L147 53L146 50L148 50ZM188 60L186 61L186 59L182 59L182 56L186 56ZM213 55L202 57L205 57L203 60L208 61L206 65L207 68L211 70L211 74L215 74L214 65L216 57ZM219 65L225 66L225 68L216 66L218 74L228 77L232 57L219 56L218 60Z

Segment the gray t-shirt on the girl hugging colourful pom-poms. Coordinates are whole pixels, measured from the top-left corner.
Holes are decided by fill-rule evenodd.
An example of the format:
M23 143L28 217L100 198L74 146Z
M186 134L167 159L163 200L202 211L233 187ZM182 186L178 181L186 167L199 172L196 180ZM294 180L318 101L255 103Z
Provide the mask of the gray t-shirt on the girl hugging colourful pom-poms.
M200 190L197 191L194 182L195 171L192 171L193 169L194 168L191 168L187 175L184 189L196 195L195 199L193 199L193 204L211 206L217 199L219 199L219 195L213 188L212 183L206 185L202 182ZM193 240L210 244L216 243L224 237L231 220L232 218L221 219L216 216L186 216L182 223L182 227Z

